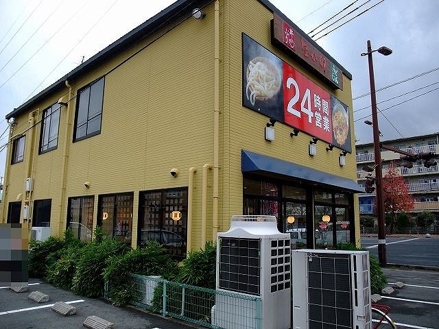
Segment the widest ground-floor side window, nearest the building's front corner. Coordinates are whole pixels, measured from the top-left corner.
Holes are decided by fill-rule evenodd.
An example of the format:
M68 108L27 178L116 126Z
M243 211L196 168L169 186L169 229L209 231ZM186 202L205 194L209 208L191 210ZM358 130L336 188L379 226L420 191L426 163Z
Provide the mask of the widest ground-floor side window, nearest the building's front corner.
M139 194L138 245L155 240L178 257L186 254L187 188Z

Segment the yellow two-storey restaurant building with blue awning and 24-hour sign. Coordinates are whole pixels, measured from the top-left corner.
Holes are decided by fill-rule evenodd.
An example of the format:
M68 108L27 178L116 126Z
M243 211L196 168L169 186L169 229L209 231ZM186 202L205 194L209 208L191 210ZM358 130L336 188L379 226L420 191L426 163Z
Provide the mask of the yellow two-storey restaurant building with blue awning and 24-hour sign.
M6 116L1 220L181 255L237 214L358 243L351 79L269 1L176 1Z

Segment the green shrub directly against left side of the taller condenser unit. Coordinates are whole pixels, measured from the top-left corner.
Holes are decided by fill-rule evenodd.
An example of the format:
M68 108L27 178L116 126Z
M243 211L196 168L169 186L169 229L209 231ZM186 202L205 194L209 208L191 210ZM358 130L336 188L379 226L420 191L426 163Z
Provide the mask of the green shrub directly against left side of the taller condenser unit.
M204 249L189 252L183 260L177 281L197 287L215 289L217 248L210 241Z

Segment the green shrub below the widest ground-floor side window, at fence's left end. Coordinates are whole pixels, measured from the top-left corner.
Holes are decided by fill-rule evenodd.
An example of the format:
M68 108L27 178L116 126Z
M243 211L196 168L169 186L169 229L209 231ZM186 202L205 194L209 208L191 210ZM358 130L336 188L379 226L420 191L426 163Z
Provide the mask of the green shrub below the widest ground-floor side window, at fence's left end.
M131 287L126 283L129 273L162 276L173 280L178 271L171 255L166 252L163 245L155 241L126 254L112 256L108 258L106 264L104 280L109 283L108 293L112 298L112 303L116 306L127 304L134 295Z

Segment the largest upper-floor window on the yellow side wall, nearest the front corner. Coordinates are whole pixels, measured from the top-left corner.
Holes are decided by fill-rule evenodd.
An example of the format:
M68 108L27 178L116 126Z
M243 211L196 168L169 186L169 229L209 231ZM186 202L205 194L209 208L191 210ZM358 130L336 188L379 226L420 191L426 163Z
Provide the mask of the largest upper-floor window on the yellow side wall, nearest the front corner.
M101 133L104 77L78 91L73 141Z

